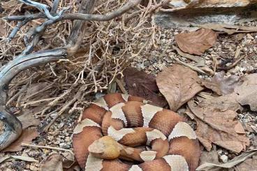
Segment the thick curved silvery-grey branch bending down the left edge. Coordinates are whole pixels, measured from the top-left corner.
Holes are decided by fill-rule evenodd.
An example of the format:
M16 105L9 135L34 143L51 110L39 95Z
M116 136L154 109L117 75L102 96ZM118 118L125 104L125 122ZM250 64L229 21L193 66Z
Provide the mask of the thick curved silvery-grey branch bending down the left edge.
M29 54L22 59L14 59L7 64L0 72L0 120L6 125L5 131L0 135L0 151L8 147L10 143L15 141L22 133L22 124L6 109L6 98L8 94L9 82L20 73L20 71L33 66L47 64L49 62L65 59L66 48L59 48L55 50L45 50L35 54Z

